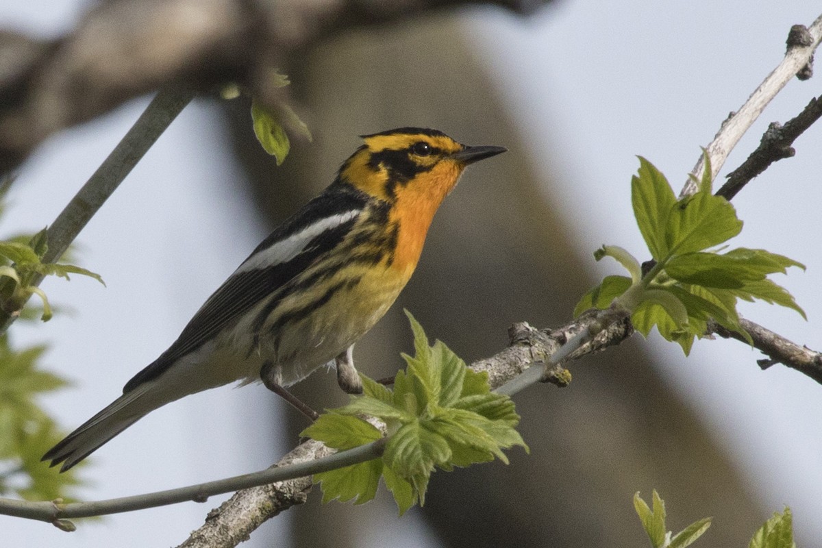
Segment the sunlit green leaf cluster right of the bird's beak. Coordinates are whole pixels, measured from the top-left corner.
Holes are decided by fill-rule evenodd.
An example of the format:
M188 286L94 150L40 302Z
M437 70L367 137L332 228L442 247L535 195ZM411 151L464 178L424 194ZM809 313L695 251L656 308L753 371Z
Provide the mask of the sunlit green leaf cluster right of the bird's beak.
M730 202L713 196L710 173L706 156L699 191L677 199L663 174L640 158L639 173L631 180L631 202L653 266L643 274L628 251L603 246L594 257L612 257L630 276L607 276L582 297L575 314L616 302L630 312L641 334L647 337L655 325L686 354L694 339L704 336L710 319L750 340L740 325L737 299L787 306L805 317L792 295L768 278L804 265L762 249L718 248L740 233L742 222Z

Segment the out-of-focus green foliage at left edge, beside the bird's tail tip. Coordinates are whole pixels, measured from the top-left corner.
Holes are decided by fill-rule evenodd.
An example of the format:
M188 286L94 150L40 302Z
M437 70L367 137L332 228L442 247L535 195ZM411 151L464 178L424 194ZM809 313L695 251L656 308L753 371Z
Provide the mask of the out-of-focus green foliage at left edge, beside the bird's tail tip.
M77 483L74 470L60 474L40 462L46 450L62 438L54 421L39 408L39 394L67 383L43 371L42 346L14 350L0 336L0 494L28 500L64 497L66 486Z

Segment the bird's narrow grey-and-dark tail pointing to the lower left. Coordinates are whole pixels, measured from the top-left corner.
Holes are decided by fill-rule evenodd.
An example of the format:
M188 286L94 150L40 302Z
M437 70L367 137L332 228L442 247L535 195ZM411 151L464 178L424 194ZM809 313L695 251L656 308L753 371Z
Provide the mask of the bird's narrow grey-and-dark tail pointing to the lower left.
M66 472L76 463L94 453L95 450L115 435L166 403L156 402L155 398L151 398L150 394L147 394L150 384L146 383L126 394L122 394L108 407L85 421L75 431L67 435L64 440L49 449L48 453L43 455L42 460L50 460L51 464L49 466L57 466L62 463L60 472Z

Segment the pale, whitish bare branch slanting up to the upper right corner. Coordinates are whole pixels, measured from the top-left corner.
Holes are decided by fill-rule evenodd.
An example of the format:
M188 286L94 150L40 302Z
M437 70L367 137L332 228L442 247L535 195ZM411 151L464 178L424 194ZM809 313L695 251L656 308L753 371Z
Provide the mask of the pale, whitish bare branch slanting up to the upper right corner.
M774 99L776 94L794 76L801 80L809 77L810 63L813 62L814 51L822 41L822 15L816 18L805 32L801 32L801 25L794 25L788 35L787 52L782 62L764 79L745 104L736 113L732 113L722 123L717 135L708 145L708 154L711 159L711 177L715 178L722 169L728 154L737 145L748 128L760 116L760 113ZM704 160L700 154L694 169L690 172L699 180L704 171ZM682 189L680 196L688 196L697 190L695 182L690 177Z

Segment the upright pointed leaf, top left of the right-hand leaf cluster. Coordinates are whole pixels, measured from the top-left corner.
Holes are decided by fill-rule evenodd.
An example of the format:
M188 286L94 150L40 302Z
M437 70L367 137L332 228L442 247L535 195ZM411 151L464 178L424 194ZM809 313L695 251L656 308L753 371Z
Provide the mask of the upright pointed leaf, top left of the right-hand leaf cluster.
M665 227L677 197L665 176L641 156L639 172L630 180L630 200L636 223L651 256L654 260L663 260L669 251Z

